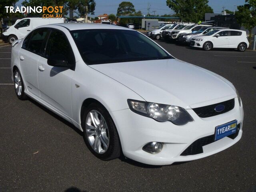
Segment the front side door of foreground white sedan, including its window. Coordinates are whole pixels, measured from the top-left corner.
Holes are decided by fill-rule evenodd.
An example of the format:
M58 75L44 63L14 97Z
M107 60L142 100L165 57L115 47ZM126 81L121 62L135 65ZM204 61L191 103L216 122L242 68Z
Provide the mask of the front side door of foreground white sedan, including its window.
M66 60L68 66L50 66L48 58ZM38 61L38 85L40 97L62 114L72 118L71 110L71 80L74 74L75 58L66 35L52 29L45 57Z

